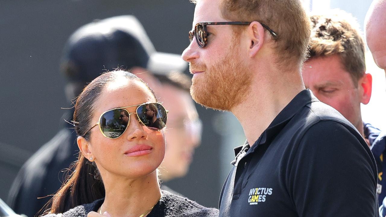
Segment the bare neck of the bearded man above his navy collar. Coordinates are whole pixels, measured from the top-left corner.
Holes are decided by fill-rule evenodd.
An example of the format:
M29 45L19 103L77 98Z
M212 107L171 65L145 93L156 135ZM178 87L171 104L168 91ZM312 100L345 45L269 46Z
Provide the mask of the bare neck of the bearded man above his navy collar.
M281 76L279 79L274 76L267 79L256 78L245 100L231 111L242 125L250 146L279 112L305 89L300 72L283 73L290 76Z

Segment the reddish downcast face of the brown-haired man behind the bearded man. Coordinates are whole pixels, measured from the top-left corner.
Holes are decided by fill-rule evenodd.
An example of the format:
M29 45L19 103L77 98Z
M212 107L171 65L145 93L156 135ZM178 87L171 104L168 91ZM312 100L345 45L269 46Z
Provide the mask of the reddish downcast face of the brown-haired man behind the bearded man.
M306 61L302 74L306 88L312 90L315 97L338 110L357 129L363 128L361 102L365 100L361 79L354 85L339 56L311 58Z

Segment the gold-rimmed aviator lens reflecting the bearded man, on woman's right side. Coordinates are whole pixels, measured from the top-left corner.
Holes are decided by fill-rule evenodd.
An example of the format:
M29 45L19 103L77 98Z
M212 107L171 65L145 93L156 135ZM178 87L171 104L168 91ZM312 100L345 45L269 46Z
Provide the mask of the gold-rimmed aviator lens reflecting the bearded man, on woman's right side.
M159 131L166 125L168 116L165 108L159 103L148 103L137 108L142 124L152 131Z

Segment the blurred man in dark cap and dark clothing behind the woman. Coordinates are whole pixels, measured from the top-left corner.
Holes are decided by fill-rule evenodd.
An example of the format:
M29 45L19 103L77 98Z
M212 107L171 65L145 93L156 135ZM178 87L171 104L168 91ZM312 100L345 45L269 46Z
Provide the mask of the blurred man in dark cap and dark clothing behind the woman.
M74 100L103 71L115 68L131 69L157 93L159 81L152 73L183 71L186 63L177 55L157 53L134 16L95 21L74 32L64 49L61 70L68 78L68 100ZM71 121L73 112L73 108L69 109L64 119ZM24 164L8 198L16 213L36 215L50 199L46 196L59 189L65 177L61 171L77 160L76 137L67 124ZM37 199L40 197L43 198Z

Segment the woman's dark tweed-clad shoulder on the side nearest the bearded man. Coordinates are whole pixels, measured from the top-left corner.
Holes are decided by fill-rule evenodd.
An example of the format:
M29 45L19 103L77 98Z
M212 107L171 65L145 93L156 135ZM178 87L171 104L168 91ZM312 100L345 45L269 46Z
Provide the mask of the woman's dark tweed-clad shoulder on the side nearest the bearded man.
M163 216L181 216L181 217L218 217L218 209L204 207L193 200L162 191L163 196L159 202L159 211ZM156 207L154 207L156 209ZM159 213L158 213L159 214Z

